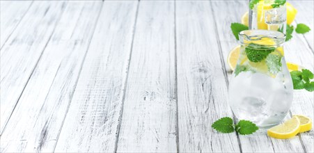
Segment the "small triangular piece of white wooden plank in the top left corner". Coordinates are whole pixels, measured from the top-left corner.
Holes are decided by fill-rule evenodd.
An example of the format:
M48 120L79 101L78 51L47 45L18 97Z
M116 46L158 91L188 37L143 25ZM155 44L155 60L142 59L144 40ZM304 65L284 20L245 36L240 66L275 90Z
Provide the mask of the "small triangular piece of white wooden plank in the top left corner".
M20 23L33 1L0 1L0 48Z

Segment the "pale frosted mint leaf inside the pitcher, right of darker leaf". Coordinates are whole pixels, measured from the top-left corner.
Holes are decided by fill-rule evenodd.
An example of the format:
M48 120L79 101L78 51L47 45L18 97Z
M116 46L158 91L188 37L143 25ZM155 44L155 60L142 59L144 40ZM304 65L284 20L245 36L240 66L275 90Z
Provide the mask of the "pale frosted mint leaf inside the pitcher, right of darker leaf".
M269 54L265 61L269 72L272 74L281 72L281 56Z

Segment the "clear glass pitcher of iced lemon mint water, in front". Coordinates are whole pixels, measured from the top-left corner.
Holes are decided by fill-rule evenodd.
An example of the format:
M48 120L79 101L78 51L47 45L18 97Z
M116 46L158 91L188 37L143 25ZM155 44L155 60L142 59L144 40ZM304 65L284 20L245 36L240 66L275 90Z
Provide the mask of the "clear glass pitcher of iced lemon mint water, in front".
M238 119L272 127L285 118L292 103L293 84L283 56L285 34L247 30L239 38L240 57L228 89L230 106Z

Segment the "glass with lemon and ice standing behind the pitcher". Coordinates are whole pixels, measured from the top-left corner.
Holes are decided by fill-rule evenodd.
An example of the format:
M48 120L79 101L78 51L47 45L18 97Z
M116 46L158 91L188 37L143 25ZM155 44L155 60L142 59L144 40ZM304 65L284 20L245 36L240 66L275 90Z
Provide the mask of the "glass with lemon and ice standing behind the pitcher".
M250 0L249 29L265 29L285 33L286 26L285 0Z

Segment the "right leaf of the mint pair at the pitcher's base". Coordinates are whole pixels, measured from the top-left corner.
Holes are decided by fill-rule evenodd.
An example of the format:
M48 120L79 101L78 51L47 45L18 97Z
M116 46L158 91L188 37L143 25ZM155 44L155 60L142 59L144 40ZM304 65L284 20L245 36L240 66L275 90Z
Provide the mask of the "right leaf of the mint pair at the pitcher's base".
M253 122L249 120L240 120L240 122L235 125L235 131L241 135L253 134L258 130L258 127Z

